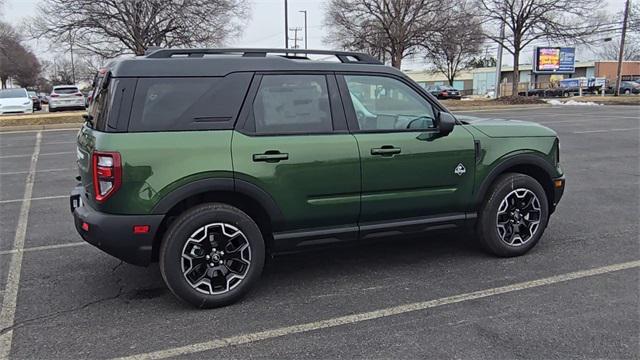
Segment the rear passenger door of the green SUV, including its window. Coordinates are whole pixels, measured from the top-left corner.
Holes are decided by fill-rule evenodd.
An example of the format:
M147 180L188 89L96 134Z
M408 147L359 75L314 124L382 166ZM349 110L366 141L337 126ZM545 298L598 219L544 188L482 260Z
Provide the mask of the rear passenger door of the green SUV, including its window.
M232 155L236 186L257 185L282 212L276 243L357 237L360 158L332 74L257 74Z

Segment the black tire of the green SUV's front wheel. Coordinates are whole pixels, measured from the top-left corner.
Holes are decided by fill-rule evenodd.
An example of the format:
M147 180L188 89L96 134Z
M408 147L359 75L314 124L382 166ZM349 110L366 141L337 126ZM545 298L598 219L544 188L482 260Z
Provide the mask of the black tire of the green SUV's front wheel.
M521 237L520 239L523 241L523 243L517 244L515 243L515 241L513 241L513 244L509 244L507 243L507 241L501 238L501 235L499 233L498 211L499 207L503 203L503 200L507 201L506 205L510 206L509 200L506 200L508 195L511 194L511 197L509 199L517 199L517 197L515 197L516 195L514 195L514 192L518 189L526 189L529 192L535 194L535 197L537 197L539 205L539 223L535 228L535 231L530 231L531 227L535 227L535 225L525 225L524 222L526 216L520 215L520 210L518 210L517 214L513 215L519 217L520 220L515 220L513 216L510 216L510 211L508 211L508 213L507 211L502 213L501 218L504 219L506 217L510 219L508 220L509 222L506 223L506 226L518 226L518 228L522 226L524 229L526 229L523 231L525 235L523 235L523 237ZM527 195L529 195L529 192L519 191L520 194ZM532 197L530 196L530 198ZM534 213L532 213L531 215L534 215ZM531 216L530 218L535 218L535 216ZM547 227L548 220L548 200L547 195L542 188L542 185L540 185L538 181L528 175L507 173L499 176L491 186L489 193L487 194L485 201L480 209L478 223L476 225L476 233L480 239L480 243L482 244L482 246L490 253L501 257L520 256L527 253L538 243L538 241L542 237L542 234L544 233L544 229ZM514 222L513 225L511 224L512 221ZM519 224L518 221L522 221L522 225L517 225ZM531 223L529 223L527 220L527 224ZM505 228L502 227L502 229L504 230ZM511 240L514 239L514 236L520 237L519 233L516 233L514 230L511 230L511 232ZM531 232L533 232L533 234L531 234ZM525 237L526 241L523 240Z

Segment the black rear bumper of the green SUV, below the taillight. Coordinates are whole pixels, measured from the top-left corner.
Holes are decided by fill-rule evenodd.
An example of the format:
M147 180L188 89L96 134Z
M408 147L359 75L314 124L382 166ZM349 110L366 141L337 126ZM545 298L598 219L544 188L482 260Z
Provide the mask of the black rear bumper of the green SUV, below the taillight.
M73 189L69 201L76 230L86 242L133 265L146 266L151 263L153 240L163 215L114 215L99 212L87 205L81 186ZM133 228L136 225L148 225L149 231L134 234Z

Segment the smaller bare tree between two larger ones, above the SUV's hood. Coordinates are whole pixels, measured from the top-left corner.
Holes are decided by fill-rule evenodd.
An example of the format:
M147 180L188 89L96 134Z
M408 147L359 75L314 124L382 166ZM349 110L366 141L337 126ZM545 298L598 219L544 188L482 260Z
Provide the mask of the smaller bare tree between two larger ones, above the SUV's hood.
M480 19L468 6L465 2L458 2L447 17L447 26L435 31L421 44L426 58L436 71L447 78L449 85L453 85L458 72L480 53L485 39Z

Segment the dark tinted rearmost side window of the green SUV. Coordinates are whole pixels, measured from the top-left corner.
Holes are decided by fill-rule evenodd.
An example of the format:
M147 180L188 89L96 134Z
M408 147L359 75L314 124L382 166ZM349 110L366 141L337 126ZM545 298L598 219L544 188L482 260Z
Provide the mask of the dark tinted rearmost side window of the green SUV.
M129 131L231 129L251 77L141 78Z

